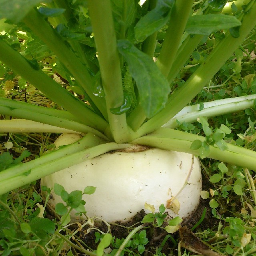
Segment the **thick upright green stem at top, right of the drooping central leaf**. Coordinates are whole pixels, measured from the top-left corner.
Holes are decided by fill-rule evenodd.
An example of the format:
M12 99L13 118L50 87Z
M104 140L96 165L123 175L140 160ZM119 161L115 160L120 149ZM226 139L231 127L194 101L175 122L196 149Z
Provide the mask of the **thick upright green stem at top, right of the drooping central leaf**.
M190 16L193 0L175 1L162 49L156 64L168 76L180 46L180 40Z

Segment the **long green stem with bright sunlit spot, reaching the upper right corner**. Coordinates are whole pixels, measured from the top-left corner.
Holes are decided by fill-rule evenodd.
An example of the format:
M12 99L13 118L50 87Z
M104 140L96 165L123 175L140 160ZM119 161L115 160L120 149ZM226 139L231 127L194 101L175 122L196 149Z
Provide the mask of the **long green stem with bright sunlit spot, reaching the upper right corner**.
M138 136L148 134L168 122L202 90L254 28L256 25L255 16L256 3L244 14L240 26L240 37L234 38L230 33L227 33L226 37L212 50L205 63L190 76L182 87L170 96L166 107L142 125L137 131Z

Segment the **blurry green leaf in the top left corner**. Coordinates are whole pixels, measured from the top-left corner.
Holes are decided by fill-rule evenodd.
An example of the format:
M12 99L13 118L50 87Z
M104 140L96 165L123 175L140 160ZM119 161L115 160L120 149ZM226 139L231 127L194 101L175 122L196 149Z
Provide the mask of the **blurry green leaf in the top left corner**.
M6 18L13 23L20 22L41 0L0 0L0 19ZM48 2L48 1L44 1Z

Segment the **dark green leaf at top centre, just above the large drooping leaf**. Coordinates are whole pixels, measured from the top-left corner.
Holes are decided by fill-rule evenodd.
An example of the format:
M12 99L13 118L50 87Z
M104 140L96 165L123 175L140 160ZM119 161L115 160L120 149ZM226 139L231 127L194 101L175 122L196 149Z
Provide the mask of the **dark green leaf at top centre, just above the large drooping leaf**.
M174 0L158 0L156 7L143 16L134 28L135 38L142 42L167 24Z

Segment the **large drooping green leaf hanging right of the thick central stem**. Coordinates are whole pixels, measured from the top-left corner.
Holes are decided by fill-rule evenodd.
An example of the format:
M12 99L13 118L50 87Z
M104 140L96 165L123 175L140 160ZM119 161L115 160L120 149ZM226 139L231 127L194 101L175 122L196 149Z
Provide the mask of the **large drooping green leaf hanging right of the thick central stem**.
M151 118L164 108L170 92L166 78L153 60L127 40L118 41L118 50L128 63L129 71L136 81L140 105ZM157 95L157 97L156 97Z

